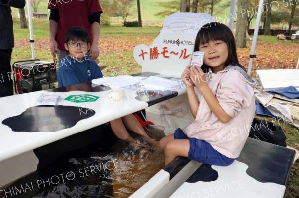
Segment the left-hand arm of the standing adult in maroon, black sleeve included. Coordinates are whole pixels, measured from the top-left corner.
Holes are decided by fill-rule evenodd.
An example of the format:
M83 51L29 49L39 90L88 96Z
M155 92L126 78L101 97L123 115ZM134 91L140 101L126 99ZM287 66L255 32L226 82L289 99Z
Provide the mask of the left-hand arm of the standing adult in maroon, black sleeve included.
M56 57L55 50L58 50L58 44L55 40L55 36L57 33L57 26L58 26L58 20L59 20L59 11L51 9L50 17L49 17L49 34L50 34L50 50L53 58Z

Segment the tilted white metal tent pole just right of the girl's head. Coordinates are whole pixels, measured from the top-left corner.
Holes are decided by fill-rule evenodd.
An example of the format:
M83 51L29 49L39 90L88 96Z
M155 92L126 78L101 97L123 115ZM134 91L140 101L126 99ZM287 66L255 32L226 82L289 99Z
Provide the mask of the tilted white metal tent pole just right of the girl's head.
M257 40L258 40L260 20L261 20L262 12L264 11L263 4L264 4L264 0L260 0L259 10L258 10L258 15L257 15L257 20L256 20L256 26L254 28L253 41L252 41L251 51L250 51L250 55L249 55L250 59L249 59L248 71L247 71L247 73L249 75L251 74L251 67L252 67L253 58L257 57L257 55L255 55L254 52L255 52L256 43L257 43Z

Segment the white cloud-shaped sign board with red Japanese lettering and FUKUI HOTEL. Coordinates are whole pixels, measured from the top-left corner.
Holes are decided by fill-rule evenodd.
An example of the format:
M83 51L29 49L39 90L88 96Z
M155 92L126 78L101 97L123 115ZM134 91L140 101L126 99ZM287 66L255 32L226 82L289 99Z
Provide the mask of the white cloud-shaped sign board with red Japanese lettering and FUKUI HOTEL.
M196 35L177 31L159 35L150 46L138 45L133 50L142 72L180 77L190 64Z

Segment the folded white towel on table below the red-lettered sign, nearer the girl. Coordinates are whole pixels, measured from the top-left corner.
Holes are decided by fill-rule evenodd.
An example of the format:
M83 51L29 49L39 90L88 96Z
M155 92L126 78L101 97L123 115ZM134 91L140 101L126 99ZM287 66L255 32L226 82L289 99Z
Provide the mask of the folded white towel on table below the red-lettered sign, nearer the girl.
M149 90L168 91L174 87L177 87L178 83L174 80L168 80L157 76L150 76L145 80L141 80L139 85Z

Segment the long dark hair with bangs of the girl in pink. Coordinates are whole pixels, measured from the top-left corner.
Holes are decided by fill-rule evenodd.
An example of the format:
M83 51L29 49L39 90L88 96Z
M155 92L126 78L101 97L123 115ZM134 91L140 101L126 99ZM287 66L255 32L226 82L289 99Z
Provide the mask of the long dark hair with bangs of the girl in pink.
M228 48L228 57L225 66L239 66L246 71L244 66L239 63L235 38L229 27L218 22L210 22L202 26L202 28L198 31L195 39L194 51L199 51L199 45L208 43L210 40L221 40L226 43ZM205 64L201 66L201 69L205 73L209 71L209 68L210 66L207 66Z

